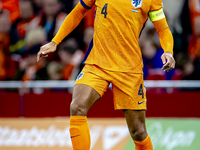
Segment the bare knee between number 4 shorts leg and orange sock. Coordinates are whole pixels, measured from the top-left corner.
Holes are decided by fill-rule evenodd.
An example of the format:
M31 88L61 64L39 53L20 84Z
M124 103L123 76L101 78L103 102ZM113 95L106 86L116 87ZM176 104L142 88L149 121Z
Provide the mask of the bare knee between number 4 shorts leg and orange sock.
M147 137L145 110L123 110L132 138L143 141Z

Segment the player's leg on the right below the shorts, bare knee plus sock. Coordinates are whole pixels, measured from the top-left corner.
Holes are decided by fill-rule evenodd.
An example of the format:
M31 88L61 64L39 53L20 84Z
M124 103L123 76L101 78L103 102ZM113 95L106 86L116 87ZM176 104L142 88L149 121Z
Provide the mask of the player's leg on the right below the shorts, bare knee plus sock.
M135 150L153 150L145 126L145 110L123 110Z

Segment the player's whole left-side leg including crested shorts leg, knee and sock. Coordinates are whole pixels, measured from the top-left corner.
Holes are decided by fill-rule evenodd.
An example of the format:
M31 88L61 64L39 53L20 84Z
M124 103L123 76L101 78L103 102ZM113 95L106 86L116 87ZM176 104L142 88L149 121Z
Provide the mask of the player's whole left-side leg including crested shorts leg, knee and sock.
M76 80L70 106L70 135L74 150L90 149L87 112L107 90L109 82L102 76L99 68L86 65Z

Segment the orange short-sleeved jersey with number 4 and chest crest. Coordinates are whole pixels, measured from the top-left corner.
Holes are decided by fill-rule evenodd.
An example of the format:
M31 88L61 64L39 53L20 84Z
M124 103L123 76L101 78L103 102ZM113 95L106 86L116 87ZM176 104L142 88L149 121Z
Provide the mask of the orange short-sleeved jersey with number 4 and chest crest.
M161 9L162 0L81 0L81 4L87 9L96 5L95 32L85 64L143 73L139 36L148 13Z

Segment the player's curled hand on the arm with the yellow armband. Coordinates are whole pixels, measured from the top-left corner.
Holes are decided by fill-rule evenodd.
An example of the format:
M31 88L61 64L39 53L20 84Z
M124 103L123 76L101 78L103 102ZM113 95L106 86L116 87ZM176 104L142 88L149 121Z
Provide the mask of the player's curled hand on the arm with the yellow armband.
M170 52L165 52L162 56L161 56L162 62L163 62L163 67L162 70L163 71L170 71L172 69L175 68L175 60L174 57L172 56L172 54Z

